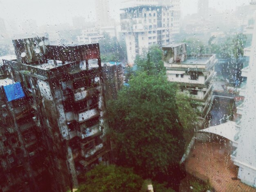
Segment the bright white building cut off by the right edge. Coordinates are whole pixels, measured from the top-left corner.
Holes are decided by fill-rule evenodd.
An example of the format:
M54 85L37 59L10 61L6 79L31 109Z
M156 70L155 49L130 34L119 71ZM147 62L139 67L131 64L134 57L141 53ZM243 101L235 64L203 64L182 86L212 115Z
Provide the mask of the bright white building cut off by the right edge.
M252 5L255 6L255 3ZM254 20L256 20L255 13ZM245 100L237 107L237 114L240 115L240 118L236 121L237 133L234 138L236 142L233 142L234 152L231 159L239 167L238 179L256 188L256 58L254 54L256 50L256 27L253 28L249 66L242 70L242 76L247 78L247 82L243 89L240 89L240 95L245 96Z

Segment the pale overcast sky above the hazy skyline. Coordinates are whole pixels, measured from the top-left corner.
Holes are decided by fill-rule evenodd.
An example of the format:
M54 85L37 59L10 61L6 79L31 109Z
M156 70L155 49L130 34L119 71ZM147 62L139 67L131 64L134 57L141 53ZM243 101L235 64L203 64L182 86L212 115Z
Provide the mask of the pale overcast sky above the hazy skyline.
M121 0L109 0L110 14L119 18ZM236 6L249 4L250 0L209 0L209 6L218 10L235 9ZM0 18L7 25L13 20L25 22L36 20L38 25L58 25L70 23L72 17L83 16L95 20L94 0L0 0ZM181 0L182 15L197 12L197 0Z

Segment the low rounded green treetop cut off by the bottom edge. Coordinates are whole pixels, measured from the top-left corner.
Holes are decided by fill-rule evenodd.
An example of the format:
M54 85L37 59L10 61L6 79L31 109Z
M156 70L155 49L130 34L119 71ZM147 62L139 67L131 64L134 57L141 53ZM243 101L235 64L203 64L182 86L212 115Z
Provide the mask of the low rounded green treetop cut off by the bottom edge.
M138 192L143 179L132 169L116 165L97 165L85 174L77 192Z

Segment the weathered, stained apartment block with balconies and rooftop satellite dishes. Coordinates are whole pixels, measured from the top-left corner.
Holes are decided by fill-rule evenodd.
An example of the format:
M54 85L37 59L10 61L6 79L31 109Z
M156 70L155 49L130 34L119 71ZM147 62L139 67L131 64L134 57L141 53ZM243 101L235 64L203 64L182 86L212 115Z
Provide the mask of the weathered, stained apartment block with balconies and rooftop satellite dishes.
M4 67L8 68L11 79L22 85L33 103L24 104L33 109L33 114L20 120L25 127L17 126L26 131L35 130L35 133L28 131L24 136L18 133L14 138L24 140L24 145L26 141L41 139L38 143L45 146L31 144L27 156L43 154L42 151L46 150L45 167L49 175L46 178L51 181L52 190L65 192L76 188L86 170L100 161L109 163L99 44L55 46L41 37L13 40L13 45L17 59L4 60ZM19 112L21 104L17 103L13 111ZM22 114L27 111L22 110ZM10 117L17 118L14 114ZM43 133L38 136L36 131L40 130ZM15 139L9 138L10 142L15 142ZM13 154L14 160L7 159L10 163L20 159L16 153ZM35 161L38 163L43 158L39 156ZM30 170L27 172L31 173ZM10 174L15 174L15 171L10 171Z

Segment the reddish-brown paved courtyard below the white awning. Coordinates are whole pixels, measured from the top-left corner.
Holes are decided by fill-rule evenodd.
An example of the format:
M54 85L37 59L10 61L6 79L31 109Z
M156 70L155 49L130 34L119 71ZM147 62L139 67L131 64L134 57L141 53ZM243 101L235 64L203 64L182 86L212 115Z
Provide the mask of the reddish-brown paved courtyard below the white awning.
M186 171L200 179L209 179L217 192L256 192L237 179L238 167L230 159L228 141L195 142L185 162Z

